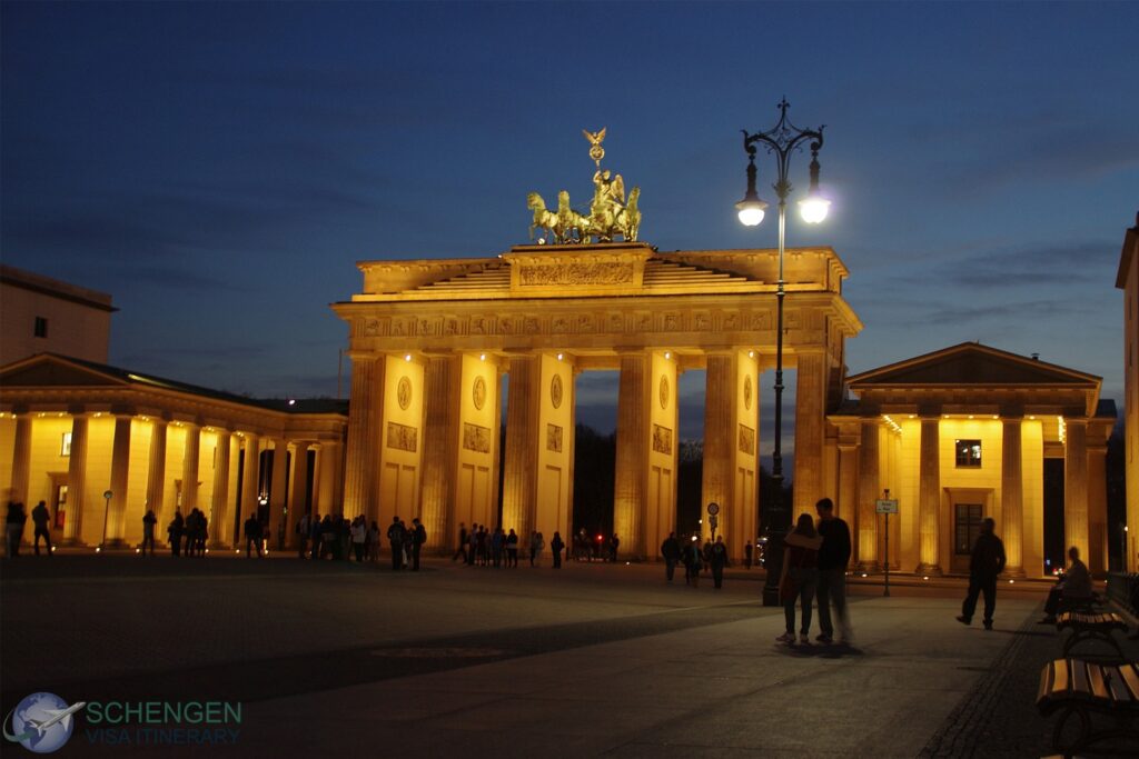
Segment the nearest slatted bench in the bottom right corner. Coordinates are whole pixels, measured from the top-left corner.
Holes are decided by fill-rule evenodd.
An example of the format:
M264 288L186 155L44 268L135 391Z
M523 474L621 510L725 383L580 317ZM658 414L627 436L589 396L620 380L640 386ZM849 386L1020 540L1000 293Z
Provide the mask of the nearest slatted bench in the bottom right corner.
M1097 748L1139 745L1139 663L1049 662L1040 673L1036 708L1044 717L1062 712L1052 731L1052 749L1065 757ZM1109 725L1097 728L1096 715L1106 717ZM1077 721L1070 725L1073 717ZM1103 743L1108 746L1096 746Z

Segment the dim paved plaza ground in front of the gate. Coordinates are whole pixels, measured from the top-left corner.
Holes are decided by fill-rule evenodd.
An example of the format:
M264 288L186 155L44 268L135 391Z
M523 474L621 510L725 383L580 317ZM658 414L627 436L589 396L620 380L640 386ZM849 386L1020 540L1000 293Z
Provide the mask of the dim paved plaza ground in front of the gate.
M232 743L92 743L81 718L59 756L1050 753L1044 584L1002 585L991 633L953 620L958 580L855 585L844 649L777 644L757 571L715 591L656 564L521 563L22 556L0 583L3 710L35 691L241 703Z

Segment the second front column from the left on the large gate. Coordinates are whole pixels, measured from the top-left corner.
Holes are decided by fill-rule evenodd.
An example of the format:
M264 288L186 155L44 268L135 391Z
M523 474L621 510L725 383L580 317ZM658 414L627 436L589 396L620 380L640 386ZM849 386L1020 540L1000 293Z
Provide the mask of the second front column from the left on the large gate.
M446 548L452 528L459 443L458 383L462 374L461 356L431 356L424 377L424 459L421 513L427 530L426 547ZM511 387L513 387L511 382ZM528 533L526 534L528 535Z

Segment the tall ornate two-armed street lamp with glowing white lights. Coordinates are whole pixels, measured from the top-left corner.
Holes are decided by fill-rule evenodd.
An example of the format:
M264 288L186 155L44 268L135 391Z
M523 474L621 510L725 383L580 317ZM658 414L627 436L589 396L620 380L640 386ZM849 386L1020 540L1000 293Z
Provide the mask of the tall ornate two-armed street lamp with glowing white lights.
M755 226L763 221L763 212L768 204L755 192L755 148L763 145L768 152L776 157L778 174L771 188L779 198L779 279L776 283L776 445L771 454L771 479L775 481L775 495L770 500L768 519L762 519L768 528L767 560L764 562L768 579L763 586L763 605L779 605L779 574L782 568L782 534L790 526L789 512L782 503L782 332L784 332L784 238L787 222L787 196L792 184L787 180L787 165L790 155L802 149L804 142L811 147L811 185L806 198L800 200L800 213L803 221L817 224L827 217L830 201L819 193L819 149L822 148L822 130L802 130L787 121L787 108L790 104L784 98L779 104L779 123L767 132L748 134L744 130L744 150L747 151L747 193L736 204L739 221L745 226ZM761 493L762 503L762 493Z

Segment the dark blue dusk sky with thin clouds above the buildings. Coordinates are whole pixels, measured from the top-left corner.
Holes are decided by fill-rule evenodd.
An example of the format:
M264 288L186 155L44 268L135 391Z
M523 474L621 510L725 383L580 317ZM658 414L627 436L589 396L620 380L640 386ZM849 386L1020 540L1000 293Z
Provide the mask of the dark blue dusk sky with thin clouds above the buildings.
M0 20L0 255L113 294L116 365L334 395L328 304L360 289L355 262L525 242L527 191L591 192L583 127L641 187L646 241L775 247L773 218L745 230L732 204L739 130L786 93L792 121L827 125L834 200L788 245L851 270L852 372L981 340L1122 402L1137 3L3 2Z

